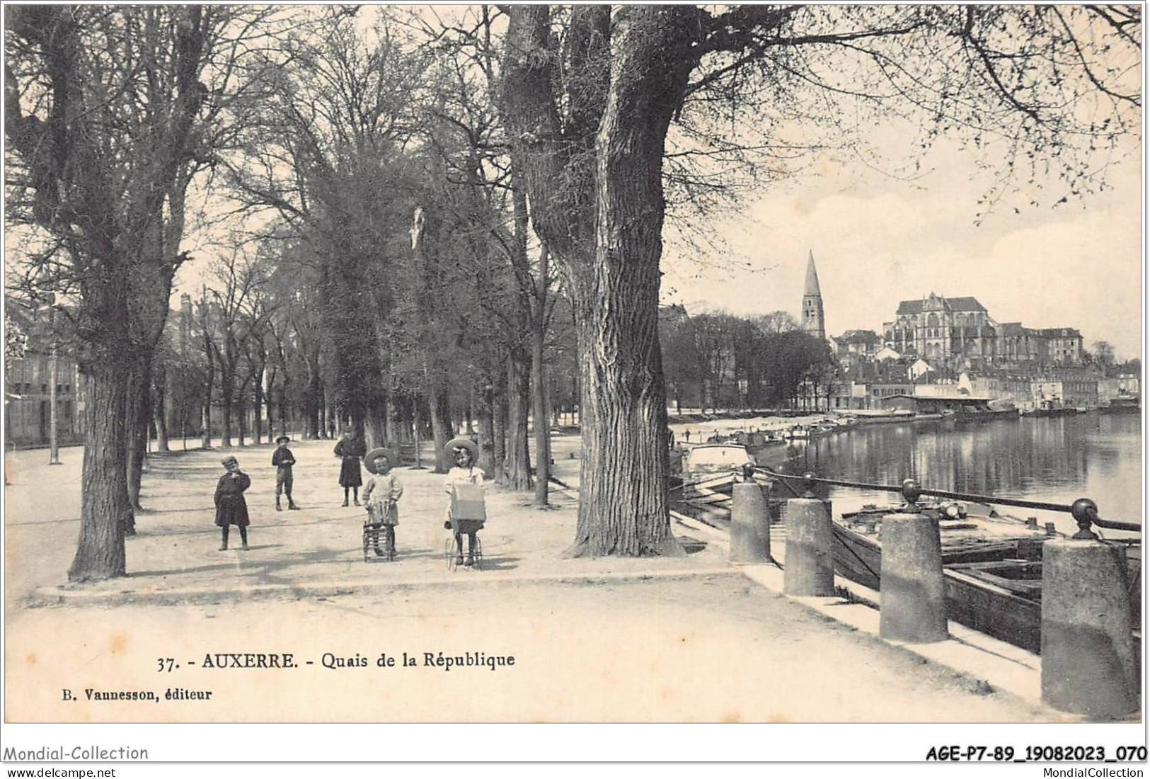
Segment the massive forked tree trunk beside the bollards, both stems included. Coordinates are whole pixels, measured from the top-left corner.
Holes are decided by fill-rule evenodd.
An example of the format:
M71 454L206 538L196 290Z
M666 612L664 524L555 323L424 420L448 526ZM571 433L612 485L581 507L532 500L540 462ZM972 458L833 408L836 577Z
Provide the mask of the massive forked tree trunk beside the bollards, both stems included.
M698 56L697 21L687 6L573 9L574 44L589 52L575 76L588 96L573 98L564 122L549 10L511 13L505 121L536 231L564 267L576 308L583 437L576 556L682 553L668 514L658 298L662 156ZM596 92L604 86L593 67L605 59L596 49L604 40L611 69L605 92ZM589 138L593 170L584 166L590 150L578 145ZM558 193L557 181L565 182Z

